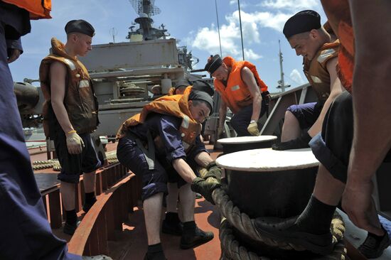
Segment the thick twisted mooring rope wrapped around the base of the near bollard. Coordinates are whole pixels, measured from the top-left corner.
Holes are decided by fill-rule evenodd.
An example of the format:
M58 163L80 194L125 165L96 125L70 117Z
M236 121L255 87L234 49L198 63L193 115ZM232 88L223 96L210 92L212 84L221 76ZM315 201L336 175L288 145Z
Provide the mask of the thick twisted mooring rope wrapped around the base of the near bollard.
M259 234L257 230L255 229L255 220L250 219L250 217L245 214L244 212L240 212L240 209L233 205L232 200L230 200L230 197L228 197L227 193L223 188L218 188L213 191L213 200L215 201L215 204L218 205L220 208L221 214L227 219L227 223L232 224L236 229L238 229L242 234L246 234L251 239L257 241L257 242L263 242L264 244L267 244L271 247L278 247L279 249L285 249L285 250L296 250L296 251L304 251L304 247L297 246L295 244L291 244L288 242L277 242L274 239L270 239L269 237L262 236L262 234ZM224 225L226 227L227 224ZM345 225L343 224L341 216L338 214L333 217L333 221L331 222L331 233L333 234L333 242L342 243L343 239L343 233L345 232ZM222 233L222 230L220 229L220 233ZM223 232L223 234L232 234L229 232ZM221 236L221 235L220 235ZM222 241L222 247L223 241L225 241L225 248L230 249L232 254L230 256L235 256L239 254L238 252L242 251L243 255L240 255L243 258L239 259L254 259L252 256L252 253L250 254L247 249L243 247L239 247L238 243L234 243L232 239L233 237L228 236L220 237L220 240ZM233 244L232 244L233 243ZM336 247L334 251L337 251L336 254L339 254L339 258L331 258L331 259L344 259L344 256L342 258L342 252L343 249L338 250L340 247ZM234 249L233 251L231 249ZM236 253L235 253L236 252ZM334 252L333 252L334 253ZM332 253L332 255L333 255ZM255 254L256 255L256 254ZM328 256L324 256L328 257ZM233 258L237 259L237 258ZM259 256L257 256L256 259L259 259ZM322 258L322 259L329 259L329 258Z

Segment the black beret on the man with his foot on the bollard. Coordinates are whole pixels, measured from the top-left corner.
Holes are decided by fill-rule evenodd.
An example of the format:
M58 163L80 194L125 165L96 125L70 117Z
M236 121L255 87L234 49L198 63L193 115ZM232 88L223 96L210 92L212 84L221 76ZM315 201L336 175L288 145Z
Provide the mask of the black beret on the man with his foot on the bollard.
M316 11L305 10L296 13L284 25L284 36L289 39L299 33L321 28L321 16Z

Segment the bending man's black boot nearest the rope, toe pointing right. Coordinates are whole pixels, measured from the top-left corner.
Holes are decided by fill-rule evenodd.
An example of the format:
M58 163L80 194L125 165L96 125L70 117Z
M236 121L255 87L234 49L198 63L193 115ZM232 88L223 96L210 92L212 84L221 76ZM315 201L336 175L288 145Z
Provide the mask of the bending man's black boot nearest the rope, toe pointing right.
M183 234L181 237L181 249L190 249L200 244L209 242L214 237L212 232L204 232L199 229L194 221L183 223Z

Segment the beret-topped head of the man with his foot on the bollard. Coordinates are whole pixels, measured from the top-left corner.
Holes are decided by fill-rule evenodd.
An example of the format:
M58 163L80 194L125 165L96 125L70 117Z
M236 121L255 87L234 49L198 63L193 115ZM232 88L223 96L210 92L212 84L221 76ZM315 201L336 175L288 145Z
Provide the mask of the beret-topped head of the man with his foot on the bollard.
M284 25L284 36L296 55L312 60L328 35L321 26L321 16L316 11L296 13Z

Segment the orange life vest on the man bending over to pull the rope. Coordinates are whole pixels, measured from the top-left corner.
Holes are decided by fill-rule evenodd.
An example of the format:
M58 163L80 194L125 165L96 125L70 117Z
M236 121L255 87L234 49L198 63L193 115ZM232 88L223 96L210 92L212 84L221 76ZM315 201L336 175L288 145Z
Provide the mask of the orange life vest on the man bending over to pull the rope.
M143 124L146 116L151 112L168 114L182 119L179 132L181 133L183 147L188 150L188 148L195 143L195 138L200 135L202 127L201 124L195 121L191 116L188 107L188 95L190 92L191 88L188 87L183 94L174 94L172 96L166 95L144 105L140 114L136 114L124 121L124 124L122 124L117 132L117 139L126 136L127 129L130 126Z

